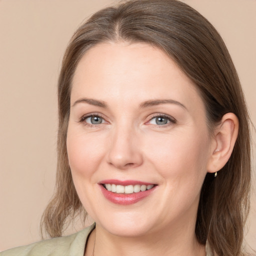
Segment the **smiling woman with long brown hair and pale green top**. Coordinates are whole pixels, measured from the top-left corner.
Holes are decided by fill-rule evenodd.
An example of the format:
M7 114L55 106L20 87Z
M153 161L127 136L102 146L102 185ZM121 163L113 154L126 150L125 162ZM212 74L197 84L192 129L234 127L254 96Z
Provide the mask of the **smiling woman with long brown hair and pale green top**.
M58 103L56 193L42 222L61 236L85 208L95 224L1 255L241 255L249 117L198 12L176 0L98 11L67 47Z

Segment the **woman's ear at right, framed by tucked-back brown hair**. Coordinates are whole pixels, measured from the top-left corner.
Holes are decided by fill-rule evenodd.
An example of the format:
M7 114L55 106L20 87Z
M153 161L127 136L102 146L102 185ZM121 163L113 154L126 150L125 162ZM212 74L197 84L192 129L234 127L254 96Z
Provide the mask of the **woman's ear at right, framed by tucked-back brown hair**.
M223 115L220 124L211 139L211 151L207 163L207 172L220 170L228 161L238 134L239 121L234 113Z

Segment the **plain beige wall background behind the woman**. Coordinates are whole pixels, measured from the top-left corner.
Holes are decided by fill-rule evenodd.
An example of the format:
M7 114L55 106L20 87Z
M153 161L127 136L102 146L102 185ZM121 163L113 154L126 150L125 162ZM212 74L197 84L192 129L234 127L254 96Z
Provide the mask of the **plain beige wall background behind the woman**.
M255 124L256 0L184 1L224 38ZM40 239L40 216L55 179L62 54L82 20L111 2L0 0L0 250ZM256 249L255 190L248 226L247 243Z

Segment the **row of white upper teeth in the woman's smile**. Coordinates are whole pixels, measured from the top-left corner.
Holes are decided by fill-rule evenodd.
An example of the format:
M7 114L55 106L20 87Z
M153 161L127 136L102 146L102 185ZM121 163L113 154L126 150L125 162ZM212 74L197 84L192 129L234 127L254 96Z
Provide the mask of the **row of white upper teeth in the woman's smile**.
M151 189L154 185L127 185L127 186L122 186L122 185L116 185L116 184L104 184L104 187L111 192L115 193L125 193L125 194L131 194L131 193L137 193L140 191L145 191L148 189Z

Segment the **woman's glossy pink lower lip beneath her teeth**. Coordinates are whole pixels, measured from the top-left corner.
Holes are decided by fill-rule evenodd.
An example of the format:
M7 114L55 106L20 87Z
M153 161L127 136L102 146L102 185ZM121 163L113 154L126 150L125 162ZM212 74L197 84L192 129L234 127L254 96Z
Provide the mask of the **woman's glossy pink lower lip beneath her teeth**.
M115 204L127 205L138 202L143 198L147 197L151 192L153 192L156 186L153 186L151 189L145 191L140 191L131 194L114 193L106 190L101 184L99 184L99 187L105 198L110 202L113 202Z

